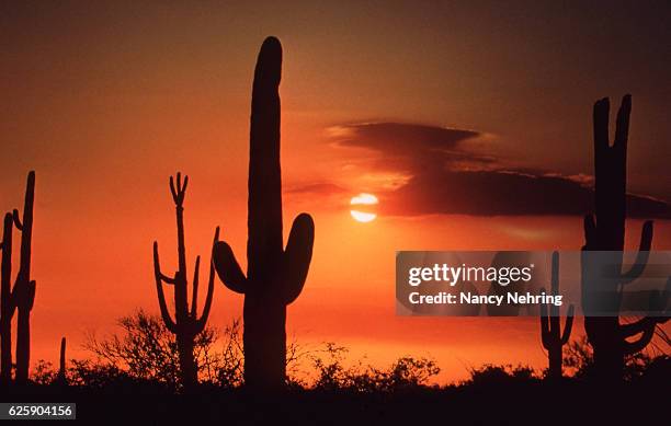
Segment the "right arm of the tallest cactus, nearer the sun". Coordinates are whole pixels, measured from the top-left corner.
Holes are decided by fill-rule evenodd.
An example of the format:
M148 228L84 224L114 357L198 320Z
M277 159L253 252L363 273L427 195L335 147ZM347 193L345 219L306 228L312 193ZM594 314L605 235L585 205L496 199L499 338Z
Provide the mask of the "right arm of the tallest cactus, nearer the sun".
M315 222L308 214L300 214L294 219L283 256L283 298L286 304L292 303L303 291L307 278L312 245L315 243Z

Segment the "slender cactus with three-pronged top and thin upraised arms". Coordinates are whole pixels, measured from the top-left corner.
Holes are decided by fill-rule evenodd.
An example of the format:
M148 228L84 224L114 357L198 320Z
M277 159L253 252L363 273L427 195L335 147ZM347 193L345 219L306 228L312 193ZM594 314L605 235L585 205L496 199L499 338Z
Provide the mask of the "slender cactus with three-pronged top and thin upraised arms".
M205 330L209 309L212 308L212 299L214 295L214 266L209 263L209 279L207 281L207 296L205 297L205 306L201 318L197 315L197 297L198 297L198 276L201 267L201 256L196 256L195 268L192 281L191 310L189 309L189 284L186 281L186 249L184 245L184 195L186 194L186 185L189 177L177 175L177 185L172 176L170 176L170 192L174 200L177 211L177 228L178 228L178 270L173 277L169 277L161 273L158 242L153 242L153 274L156 277L156 289L158 292L159 307L161 316L166 323L166 327L177 336L178 352L180 357L180 375L181 383L185 388L191 388L197 383L197 366L194 358L194 338ZM219 240L219 228L215 231L214 242ZM172 320L166 296L163 293L162 283L174 286L174 320Z

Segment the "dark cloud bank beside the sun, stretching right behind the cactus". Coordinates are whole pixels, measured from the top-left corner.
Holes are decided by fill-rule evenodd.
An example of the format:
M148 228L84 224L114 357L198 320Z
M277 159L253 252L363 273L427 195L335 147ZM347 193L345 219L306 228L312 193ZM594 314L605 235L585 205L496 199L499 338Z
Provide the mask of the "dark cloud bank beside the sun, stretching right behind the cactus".
M408 176L379 195L380 212L394 216L459 214L584 215L593 211L589 175L565 176L524 169L488 152L475 130L401 123L330 128L334 145L361 149L374 173ZM323 184L322 184L323 185ZM630 217L670 218L668 203L627 196Z

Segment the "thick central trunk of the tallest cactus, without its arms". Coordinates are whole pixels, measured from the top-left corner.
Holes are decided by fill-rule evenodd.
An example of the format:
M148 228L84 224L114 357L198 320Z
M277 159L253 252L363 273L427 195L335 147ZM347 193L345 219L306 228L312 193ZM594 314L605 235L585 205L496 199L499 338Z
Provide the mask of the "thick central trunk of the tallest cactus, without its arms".
M286 306L272 295L283 254L280 165L282 48L264 43L254 70L249 143L248 278L244 298L244 382L282 387L285 380Z

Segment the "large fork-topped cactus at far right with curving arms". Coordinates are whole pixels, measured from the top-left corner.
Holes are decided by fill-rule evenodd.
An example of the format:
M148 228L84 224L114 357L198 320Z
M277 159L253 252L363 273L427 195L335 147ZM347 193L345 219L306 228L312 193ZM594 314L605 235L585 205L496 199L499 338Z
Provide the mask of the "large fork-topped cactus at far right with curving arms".
M618 306L622 298L622 286L632 283L644 272L650 245L652 242L652 221L646 221L640 237L639 252L636 263L628 270L622 270L622 250L624 249L626 219L626 160L627 138L629 131L629 114L632 96L626 95L617 113L615 140L609 142L609 99L602 99L594 104L594 179L595 179L595 216L584 218L583 251L607 251L612 253L609 276L619 277L612 281L609 293L614 295L609 304ZM582 256L582 303L590 306L590 277L594 276L593 267L587 254ZM642 318L630 324L621 324L618 316L585 316L584 330L594 349L594 366L601 379L622 379L626 355L635 354L645 348L655 334L658 323L668 318ZM636 341L627 341L637 334Z

